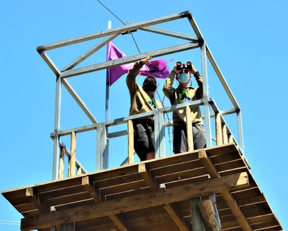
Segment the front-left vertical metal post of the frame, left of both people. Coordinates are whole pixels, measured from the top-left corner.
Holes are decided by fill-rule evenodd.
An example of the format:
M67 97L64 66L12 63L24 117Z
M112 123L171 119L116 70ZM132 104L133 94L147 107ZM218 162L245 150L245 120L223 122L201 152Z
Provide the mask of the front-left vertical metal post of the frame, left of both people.
M56 97L55 97L55 119L54 119L54 146L53 146L53 170L52 180L58 179L59 176L59 161L60 148L58 132L60 131L60 112L61 112L61 78L56 77Z

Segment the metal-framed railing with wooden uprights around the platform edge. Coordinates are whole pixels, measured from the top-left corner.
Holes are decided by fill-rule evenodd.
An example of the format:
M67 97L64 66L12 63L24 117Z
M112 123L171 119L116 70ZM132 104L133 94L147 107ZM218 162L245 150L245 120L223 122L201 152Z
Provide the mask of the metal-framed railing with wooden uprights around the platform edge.
M227 144L227 143L235 143L237 149L240 153L243 153L239 148L237 141L234 139L231 130L229 129L226 121L224 120L224 114L232 114L236 113L236 110L224 110L220 111L214 102L213 98L209 98L209 104L214 111L214 114L210 115L211 117L215 117L215 130L216 130L216 145ZM86 132L90 130L97 130L97 151L96 151L96 170L101 170L108 168L108 155L106 153L106 142L107 139L111 139L114 137L125 136L128 135L128 155L126 160L123 163L132 164L134 163L134 140L133 140L133 120L135 119L146 119L150 117L154 117L155 121L155 158L165 156L165 137L164 137L164 129L167 127L164 123L164 113L185 110L187 123L187 140L188 140L188 151L193 151L193 130L192 130L192 120L191 120L191 108L199 107L204 104L203 100L196 100L189 103L177 104L170 107L160 108L155 111L146 112L142 114L136 114L132 116L122 117L110 121L105 121L102 123L90 124L82 127L71 128L67 130L61 130L58 132L58 136L66 136L71 135L71 151L68 156L68 177L75 176L75 168L77 167L77 175L86 173L83 169L83 166L77 162L76 160L76 134L81 132ZM223 114L222 114L223 113ZM205 117L203 118L207 120ZM210 121L209 121L210 122ZM107 128L119 124L127 123L127 130L117 131L113 133L106 133ZM206 122L207 123L207 122ZM207 128L207 127L206 127ZM211 129L211 126L208 127ZM211 134L211 131L207 131L206 133ZM51 133L51 137L53 139L54 133ZM206 135L206 139L207 139ZM214 140L213 136L210 136L210 139ZM206 140L207 141L207 140ZM60 143L61 144L61 143ZM63 144L63 143L62 143ZM61 145L60 145L61 146ZM59 164L59 178L64 177L64 153L66 153L66 147L61 146L61 155L60 155L60 164Z

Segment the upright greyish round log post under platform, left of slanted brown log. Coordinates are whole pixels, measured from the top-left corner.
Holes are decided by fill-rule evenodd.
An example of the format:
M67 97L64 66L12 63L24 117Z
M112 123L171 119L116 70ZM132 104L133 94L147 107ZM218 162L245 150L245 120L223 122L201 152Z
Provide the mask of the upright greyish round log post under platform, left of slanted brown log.
M190 210L193 231L206 231L203 218L199 208L200 197L190 199Z

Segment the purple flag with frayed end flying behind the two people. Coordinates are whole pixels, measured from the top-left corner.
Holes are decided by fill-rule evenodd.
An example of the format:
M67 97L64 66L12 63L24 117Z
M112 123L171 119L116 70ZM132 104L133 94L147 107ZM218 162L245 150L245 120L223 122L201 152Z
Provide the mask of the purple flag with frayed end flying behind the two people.
M119 50L112 42L107 44L107 61L126 57L126 55ZM110 86L119 79L128 70L133 68L134 63L128 63L120 66L115 66L107 69L106 83L110 82ZM155 78L166 79L170 73L165 59L157 59L150 62L149 65L144 65L139 72L139 75L149 76L153 75Z

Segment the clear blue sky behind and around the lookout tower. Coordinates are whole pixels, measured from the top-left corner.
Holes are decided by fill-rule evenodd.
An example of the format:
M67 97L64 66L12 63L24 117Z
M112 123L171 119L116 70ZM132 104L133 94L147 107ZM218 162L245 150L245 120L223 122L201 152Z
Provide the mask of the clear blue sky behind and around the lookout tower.
M285 1L106 1L122 21L142 21L190 10L221 68L243 115L246 158L261 190L284 229L288 229L287 107L288 66L287 2ZM0 190L45 182L52 177L55 75L36 52L36 47L84 34L121 26L97 1L2 1L1 42L1 162ZM193 34L187 20L157 27ZM168 47L184 40L137 31L141 52ZM48 51L61 69L101 39ZM113 40L127 56L138 53L130 35ZM201 72L200 51L164 56L166 60L191 60ZM105 61L103 47L79 66ZM172 69L173 62L169 64ZM69 78L68 81L99 121L105 120L105 70ZM143 78L137 77L142 84ZM221 110L231 108L216 74L208 65L210 96ZM159 81L159 94L164 80ZM196 82L193 82L196 86ZM167 99L164 101L167 102ZM111 118L128 115L129 94L122 77L111 86ZM234 134L236 116L225 117ZM90 124L74 99L63 88L61 129ZM214 122L212 121L212 124ZM123 130L115 126L111 131ZM70 137L63 137L69 144ZM167 143L167 142L166 142ZM69 146L69 145L68 145ZM77 159L95 171L95 131L77 135ZM127 155L127 137L111 141L109 165L117 166ZM114 154L113 154L114 152ZM169 152L169 150L167 150ZM66 160L67 161L67 160ZM67 163L67 162L66 162ZM0 220L20 220L20 214L0 197ZM19 230L1 225L0 230Z

